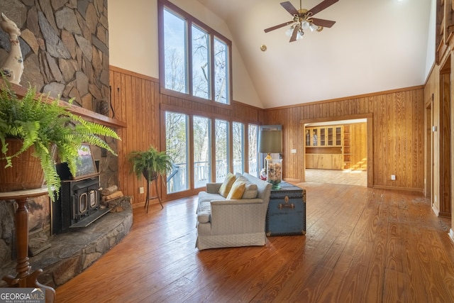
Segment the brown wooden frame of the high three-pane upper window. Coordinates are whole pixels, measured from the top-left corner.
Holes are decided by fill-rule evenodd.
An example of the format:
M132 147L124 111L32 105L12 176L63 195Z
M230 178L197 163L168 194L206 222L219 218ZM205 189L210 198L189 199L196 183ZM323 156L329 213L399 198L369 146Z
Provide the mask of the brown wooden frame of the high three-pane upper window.
M164 49L164 10L167 9L175 13L175 15L182 17L186 21L186 50L185 56L187 60L187 93L177 92L172 89L167 89L165 87L165 49ZM210 99L204 99L201 97L194 96L194 85L192 79L192 26L201 28L209 34L209 62L210 62L210 79L209 79L209 90L210 90ZM157 28L158 28L158 52L159 52L159 82L160 82L160 92L161 94L166 94L175 97L183 97L184 99L189 99L191 101L199 101L203 103L216 104L217 106L231 106L233 102L233 81L232 81L232 43L231 40L223 36L221 33L218 33L213 28L210 28L205 23L199 21L194 16L191 16L186 11L183 11L175 4L167 0L158 0L157 1ZM214 39L221 40L223 43L226 43L228 48L228 69L227 69L227 79L228 84L228 97L227 103L223 104L216 101L215 93L215 68L214 68Z

